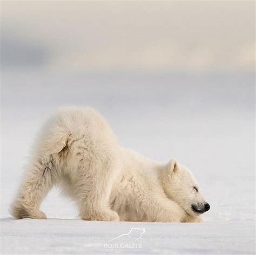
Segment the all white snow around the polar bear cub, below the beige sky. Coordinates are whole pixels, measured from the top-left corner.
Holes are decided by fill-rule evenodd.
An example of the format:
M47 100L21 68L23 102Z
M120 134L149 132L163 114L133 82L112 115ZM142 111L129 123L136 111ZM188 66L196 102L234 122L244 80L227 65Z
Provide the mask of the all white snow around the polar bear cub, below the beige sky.
M3 72L2 84L1 254L254 254L253 74ZM190 167L211 205L204 223L85 222L57 188L41 206L48 220L13 219L33 137L70 104L99 109L123 146ZM109 244L132 228L145 229L137 242Z

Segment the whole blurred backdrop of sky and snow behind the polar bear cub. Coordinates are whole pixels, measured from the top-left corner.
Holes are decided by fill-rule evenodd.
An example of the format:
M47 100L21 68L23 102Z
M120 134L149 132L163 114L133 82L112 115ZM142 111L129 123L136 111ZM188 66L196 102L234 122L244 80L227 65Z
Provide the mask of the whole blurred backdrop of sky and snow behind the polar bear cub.
M190 167L206 221L254 220L254 32L254 1L1 2L2 216L44 120L84 105ZM77 217L57 189L42 210Z

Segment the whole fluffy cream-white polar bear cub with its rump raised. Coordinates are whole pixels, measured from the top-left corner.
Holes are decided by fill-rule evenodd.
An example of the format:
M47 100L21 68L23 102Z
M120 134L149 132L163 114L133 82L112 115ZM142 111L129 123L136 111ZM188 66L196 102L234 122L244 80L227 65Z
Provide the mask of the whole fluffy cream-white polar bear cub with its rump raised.
M11 205L17 219L45 219L39 210L61 185L84 220L201 222L210 205L191 171L119 146L103 116L88 107L60 108L44 125Z

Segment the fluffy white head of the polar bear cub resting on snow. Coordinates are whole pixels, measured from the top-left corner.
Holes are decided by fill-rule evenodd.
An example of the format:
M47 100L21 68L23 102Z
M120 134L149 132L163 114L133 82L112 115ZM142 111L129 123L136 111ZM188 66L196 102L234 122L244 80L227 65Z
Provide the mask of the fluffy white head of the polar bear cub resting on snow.
M163 188L167 197L192 217L210 209L190 169L179 164L177 160L171 160L164 168Z

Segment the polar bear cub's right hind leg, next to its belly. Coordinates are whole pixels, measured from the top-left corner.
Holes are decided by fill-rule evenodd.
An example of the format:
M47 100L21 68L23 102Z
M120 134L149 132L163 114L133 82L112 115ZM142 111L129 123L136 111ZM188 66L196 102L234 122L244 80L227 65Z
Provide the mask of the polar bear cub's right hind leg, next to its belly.
M77 202L79 215L84 220L119 221L116 211L110 209L109 197L118 168L109 160L89 159L78 167Z

